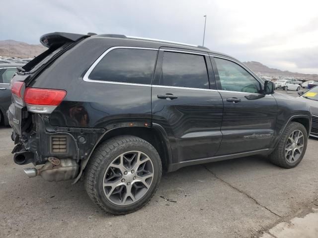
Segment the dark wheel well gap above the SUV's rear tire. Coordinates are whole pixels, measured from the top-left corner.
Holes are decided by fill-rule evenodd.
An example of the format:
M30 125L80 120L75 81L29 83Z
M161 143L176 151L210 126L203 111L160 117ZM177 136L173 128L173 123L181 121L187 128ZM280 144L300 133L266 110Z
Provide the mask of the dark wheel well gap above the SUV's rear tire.
M166 171L169 161L168 150L170 148L168 148L168 145L164 142L163 135L158 130L153 127L121 127L112 129L104 135L97 146L101 142L118 135L134 135L152 144L158 151L162 163L162 169Z

